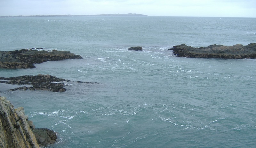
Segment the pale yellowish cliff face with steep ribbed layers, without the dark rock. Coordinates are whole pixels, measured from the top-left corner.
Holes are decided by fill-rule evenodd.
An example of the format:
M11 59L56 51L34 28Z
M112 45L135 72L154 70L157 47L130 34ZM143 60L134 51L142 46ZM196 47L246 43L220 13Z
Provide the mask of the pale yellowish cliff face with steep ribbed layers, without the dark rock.
M36 137L27 122L22 107L14 109L6 99L0 97L0 147L1 148L39 148Z

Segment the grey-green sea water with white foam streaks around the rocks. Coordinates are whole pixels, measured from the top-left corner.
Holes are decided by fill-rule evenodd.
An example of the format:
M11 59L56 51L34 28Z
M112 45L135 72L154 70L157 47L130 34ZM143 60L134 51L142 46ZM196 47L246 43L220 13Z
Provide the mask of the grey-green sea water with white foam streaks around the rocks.
M66 92L9 91L36 128L57 132L48 148L241 148L256 145L256 60L181 58L172 46L256 42L256 18L0 18L0 50L40 47L84 59L0 69L51 74ZM143 51L128 51L142 46Z

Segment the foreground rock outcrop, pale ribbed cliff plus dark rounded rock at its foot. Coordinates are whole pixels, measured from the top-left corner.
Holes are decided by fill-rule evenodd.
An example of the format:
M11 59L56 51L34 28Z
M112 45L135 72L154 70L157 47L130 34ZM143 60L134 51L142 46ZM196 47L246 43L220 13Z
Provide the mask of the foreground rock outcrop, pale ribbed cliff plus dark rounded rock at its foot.
M14 109L6 97L0 96L1 148L39 148L53 144L56 140L57 135L53 130L35 129L33 122L25 116L23 107Z

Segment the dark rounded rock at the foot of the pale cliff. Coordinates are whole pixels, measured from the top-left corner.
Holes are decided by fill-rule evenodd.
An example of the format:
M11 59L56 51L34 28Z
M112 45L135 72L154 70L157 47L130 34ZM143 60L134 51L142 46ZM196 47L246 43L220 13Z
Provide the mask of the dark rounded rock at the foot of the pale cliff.
M33 133L39 146L54 144L57 140L57 134L53 130L47 128L35 128Z

